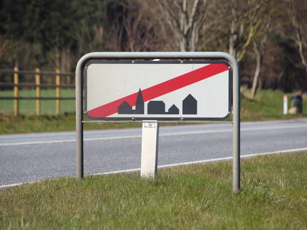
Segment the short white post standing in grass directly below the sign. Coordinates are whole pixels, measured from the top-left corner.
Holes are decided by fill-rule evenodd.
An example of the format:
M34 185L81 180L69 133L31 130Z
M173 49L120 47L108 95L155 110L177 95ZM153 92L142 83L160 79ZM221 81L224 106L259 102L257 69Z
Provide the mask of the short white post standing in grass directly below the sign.
M141 176L148 178L158 171L159 123L145 121L142 128Z

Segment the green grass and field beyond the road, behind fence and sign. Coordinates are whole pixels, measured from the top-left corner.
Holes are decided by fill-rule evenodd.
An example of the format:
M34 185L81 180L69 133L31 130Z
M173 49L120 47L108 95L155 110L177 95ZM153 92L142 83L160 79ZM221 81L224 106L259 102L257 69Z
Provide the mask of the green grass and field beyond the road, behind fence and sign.
M62 90L62 96L72 97L74 90ZM8 96L12 91L0 91L0 96ZM34 91L21 91L28 96L34 96ZM30 94L31 93L31 94ZM44 96L54 96L54 90L42 91ZM259 90L255 100L249 99L249 90L245 90L241 96L241 121L261 121L276 119L294 119L307 117L307 97L303 99L303 112L297 115L283 116L283 93L273 90ZM25 96L25 95L24 95ZM290 97L288 94L289 107ZM21 100L20 100L21 101ZM35 100L20 102L20 116L14 117L13 100L0 100L0 134L8 133L29 133L29 132L57 132L57 131L74 131L75 130L75 101L65 100L61 102L61 114L55 116L55 101L45 100L41 102L43 116L34 116ZM29 104L27 104L29 103ZM23 111L27 111L22 114ZM231 121L232 117L228 119ZM86 120L86 118L84 118ZM161 125L173 125L167 123ZM176 123L178 125L178 123ZM182 123L181 123L182 124ZM183 123L189 124L189 123ZM84 129L110 129L124 127L140 127L140 123L95 123L85 124Z

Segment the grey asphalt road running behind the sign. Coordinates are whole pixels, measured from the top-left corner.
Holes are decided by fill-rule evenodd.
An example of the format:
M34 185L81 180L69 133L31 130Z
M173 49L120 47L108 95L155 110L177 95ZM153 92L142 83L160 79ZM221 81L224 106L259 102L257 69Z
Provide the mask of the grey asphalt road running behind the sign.
M84 125L86 129L86 124ZM84 173L138 169L141 128L84 132ZM241 155L307 150L307 119L242 122ZM0 187L75 175L75 133L0 135ZM232 156L232 124L160 127L159 166Z

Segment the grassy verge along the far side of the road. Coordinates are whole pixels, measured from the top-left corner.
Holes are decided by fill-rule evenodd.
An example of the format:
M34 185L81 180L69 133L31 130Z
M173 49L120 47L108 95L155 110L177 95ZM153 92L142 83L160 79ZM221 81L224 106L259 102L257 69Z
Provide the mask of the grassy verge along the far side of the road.
M307 98L304 98L303 100L302 114L283 116L282 114L283 93L273 90L259 90L256 100L250 100L248 95L249 95L248 90L244 91L244 93L242 94L242 100L241 100L242 121L294 119L294 118L303 118L307 116ZM291 95L288 96L289 96L288 98L290 106ZM45 101L45 102L47 104L43 105L45 105L46 108L49 108L50 109L49 111L54 111L52 110L53 108L52 105L54 106L55 103L52 101ZM0 101L0 103L3 103L3 101ZM52 103L52 105L48 103ZM67 101L66 102L63 101L62 103L67 103ZM71 104L70 106L73 107ZM6 108L5 105L2 106L2 109L3 108ZM35 106L32 106L33 110L34 108ZM230 121L231 119L232 118L228 120ZM86 118L84 118L84 120L86 120ZM176 124L178 125L178 123ZM162 125L174 125L174 123L168 123ZM95 123L95 124L84 125L84 128L86 130L125 128L125 127L141 127L141 124ZM13 117L11 114L0 113L0 134L29 133L29 132L58 132L58 131L73 131L73 130L75 130L74 112L64 112L60 116L46 114L40 117L33 115L23 115L19 117Z

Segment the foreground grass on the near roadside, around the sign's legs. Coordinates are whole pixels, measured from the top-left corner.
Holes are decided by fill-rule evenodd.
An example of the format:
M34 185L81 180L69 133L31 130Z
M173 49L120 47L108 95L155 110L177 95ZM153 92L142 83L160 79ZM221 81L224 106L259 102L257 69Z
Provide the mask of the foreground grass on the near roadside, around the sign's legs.
M307 152L139 173L60 178L0 191L3 229L306 229Z

